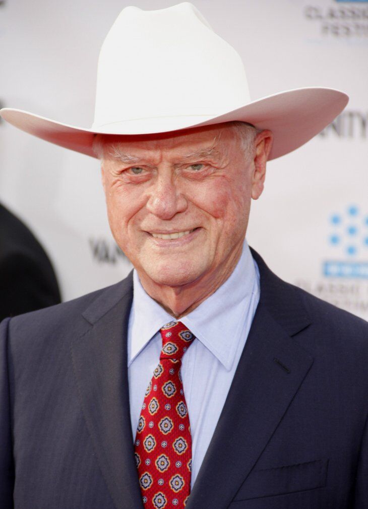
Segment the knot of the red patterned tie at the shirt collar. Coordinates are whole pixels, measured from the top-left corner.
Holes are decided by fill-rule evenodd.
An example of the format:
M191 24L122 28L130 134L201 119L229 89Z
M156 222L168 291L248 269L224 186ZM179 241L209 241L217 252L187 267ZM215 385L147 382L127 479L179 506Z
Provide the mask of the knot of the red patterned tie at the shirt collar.
M160 332L162 337L160 360L180 361L195 339L194 334L181 322L166 323Z

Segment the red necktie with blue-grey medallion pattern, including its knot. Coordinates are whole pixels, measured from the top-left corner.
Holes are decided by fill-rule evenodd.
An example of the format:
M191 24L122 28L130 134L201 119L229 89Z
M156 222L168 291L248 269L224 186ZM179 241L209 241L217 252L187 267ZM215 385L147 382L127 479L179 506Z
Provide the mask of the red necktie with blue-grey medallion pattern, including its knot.
M139 417L135 461L145 509L183 509L190 493L192 444L180 374L193 334L181 323L160 329L162 350Z

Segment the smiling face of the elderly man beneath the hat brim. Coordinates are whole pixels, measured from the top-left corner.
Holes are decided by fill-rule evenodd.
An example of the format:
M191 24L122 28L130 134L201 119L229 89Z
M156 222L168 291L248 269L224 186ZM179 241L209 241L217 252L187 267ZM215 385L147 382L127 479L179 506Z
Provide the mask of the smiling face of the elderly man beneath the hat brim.
M228 277L246 232L253 174L252 157L227 124L106 145L110 228L143 284Z

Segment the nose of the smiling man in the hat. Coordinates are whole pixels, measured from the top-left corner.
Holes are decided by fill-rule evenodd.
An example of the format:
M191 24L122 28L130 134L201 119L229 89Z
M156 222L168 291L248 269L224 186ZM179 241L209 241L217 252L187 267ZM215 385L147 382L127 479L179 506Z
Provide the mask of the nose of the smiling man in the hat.
M170 171L159 173L150 188L147 210L160 219L172 219L188 206L186 197L178 188L178 183Z

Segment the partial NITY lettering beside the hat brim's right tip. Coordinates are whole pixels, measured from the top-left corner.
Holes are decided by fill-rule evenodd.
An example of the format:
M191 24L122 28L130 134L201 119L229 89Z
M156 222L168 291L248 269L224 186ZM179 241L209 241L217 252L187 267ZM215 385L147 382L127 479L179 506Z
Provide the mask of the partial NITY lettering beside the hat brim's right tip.
M344 110L319 136L368 139L368 111Z

